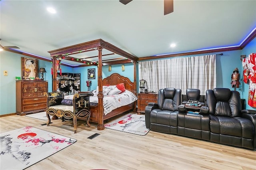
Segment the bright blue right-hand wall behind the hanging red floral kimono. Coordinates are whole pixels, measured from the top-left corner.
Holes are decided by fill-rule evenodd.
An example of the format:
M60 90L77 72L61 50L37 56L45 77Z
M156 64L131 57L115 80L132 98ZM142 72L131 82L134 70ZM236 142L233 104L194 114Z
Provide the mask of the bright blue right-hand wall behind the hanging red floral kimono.
M252 40L250 43L248 43L246 45L246 47L244 47L244 49L242 49L242 55L246 55L246 57L248 57L248 55L251 54L251 53L256 53L256 38L254 38L254 40ZM241 69L242 69L242 65L241 65ZM240 75L242 75L242 71L241 71ZM255 109L255 108L250 107L247 104L249 85L243 82L243 86L244 86L243 97L244 97L244 99L246 99L246 109Z

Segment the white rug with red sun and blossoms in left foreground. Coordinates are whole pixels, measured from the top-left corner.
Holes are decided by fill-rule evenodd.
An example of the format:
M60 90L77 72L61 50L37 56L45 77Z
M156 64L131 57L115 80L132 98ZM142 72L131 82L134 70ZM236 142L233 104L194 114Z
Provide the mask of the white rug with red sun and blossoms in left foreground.
M0 134L0 169L22 170L75 143L76 139L34 127Z

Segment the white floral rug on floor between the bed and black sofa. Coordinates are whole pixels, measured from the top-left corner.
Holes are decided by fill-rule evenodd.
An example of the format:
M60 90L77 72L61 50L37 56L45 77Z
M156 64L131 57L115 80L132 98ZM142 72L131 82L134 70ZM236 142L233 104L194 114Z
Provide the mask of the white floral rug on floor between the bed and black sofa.
M145 125L145 115L136 115L131 113L104 126L106 128L138 135L146 135L149 132L149 129L146 128Z

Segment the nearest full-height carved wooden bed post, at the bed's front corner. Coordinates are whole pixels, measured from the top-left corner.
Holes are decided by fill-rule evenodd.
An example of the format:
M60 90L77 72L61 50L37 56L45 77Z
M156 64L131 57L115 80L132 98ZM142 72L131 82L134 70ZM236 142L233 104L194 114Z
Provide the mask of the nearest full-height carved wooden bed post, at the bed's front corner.
M103 125L103 92L102 92L102 47L98 47L98 130L104 130Z

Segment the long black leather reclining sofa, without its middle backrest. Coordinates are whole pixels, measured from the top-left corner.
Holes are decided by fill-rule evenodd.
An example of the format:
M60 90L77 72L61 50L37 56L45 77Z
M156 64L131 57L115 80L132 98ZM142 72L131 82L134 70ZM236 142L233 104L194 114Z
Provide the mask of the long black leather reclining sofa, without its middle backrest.
M226 88L206 91L199 114L181 105L181 90L160 89L145 109L146 128L256 150L256 111L241 110L240 94Z

